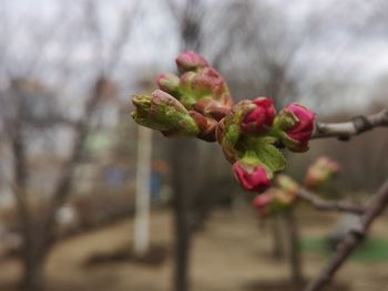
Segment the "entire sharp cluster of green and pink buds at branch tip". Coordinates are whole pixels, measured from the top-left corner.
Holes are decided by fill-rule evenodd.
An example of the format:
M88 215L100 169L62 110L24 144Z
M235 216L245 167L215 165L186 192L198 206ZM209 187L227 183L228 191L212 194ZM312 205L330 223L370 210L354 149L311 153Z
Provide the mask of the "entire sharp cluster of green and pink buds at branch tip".
M224 77L207 61L188 51L176 59L180 75L161 74L151 96L134 96L135 122L166 136L191 136L218 142L225 158L247 191L263 191L284 169L280 152L308 149L315 114L289 104L278 114L272 98L233 104Z

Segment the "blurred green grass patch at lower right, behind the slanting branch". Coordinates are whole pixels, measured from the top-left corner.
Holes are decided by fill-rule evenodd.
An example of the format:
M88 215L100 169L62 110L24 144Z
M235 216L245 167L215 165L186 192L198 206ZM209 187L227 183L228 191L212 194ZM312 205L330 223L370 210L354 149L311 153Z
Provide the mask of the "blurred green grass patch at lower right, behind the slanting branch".
M302 251L314 251L325 257L334 253L333 250L328 249L323 238L303 238L300 249ZM369 238L353 252L350 260L370 263L388 262L388 240Z

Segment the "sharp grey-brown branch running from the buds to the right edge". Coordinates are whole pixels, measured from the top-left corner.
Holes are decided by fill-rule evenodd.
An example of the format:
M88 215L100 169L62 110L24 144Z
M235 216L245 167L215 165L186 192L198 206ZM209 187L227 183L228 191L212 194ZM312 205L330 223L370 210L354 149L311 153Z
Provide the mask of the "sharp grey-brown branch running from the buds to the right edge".
M388 126L388 110L368 116L359 115L344 123L316 123L312 138L337 137L339 141L349 141L351 136L382 126Z

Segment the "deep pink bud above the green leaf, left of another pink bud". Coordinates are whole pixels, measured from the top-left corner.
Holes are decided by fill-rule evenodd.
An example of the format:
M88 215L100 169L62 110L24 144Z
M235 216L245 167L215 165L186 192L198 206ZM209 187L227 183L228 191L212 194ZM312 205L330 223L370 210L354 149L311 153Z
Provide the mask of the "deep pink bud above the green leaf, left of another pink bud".
M244 134L257 136L265 127L272 126L276 111L272 98L268 97L258 97L252 101L252 104L255 107L244 114L239 127Z

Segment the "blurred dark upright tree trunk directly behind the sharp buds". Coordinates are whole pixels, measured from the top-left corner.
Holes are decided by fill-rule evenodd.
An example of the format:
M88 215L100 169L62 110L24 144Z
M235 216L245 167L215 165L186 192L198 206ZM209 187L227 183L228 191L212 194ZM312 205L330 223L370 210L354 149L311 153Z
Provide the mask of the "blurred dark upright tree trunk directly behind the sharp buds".
M201 0L187 0L182 6L169 0L171 12L178 25L180 50L201 51L202 18L204 7ZM186 157L191 158L186 158ZM186 138L171 142L170 159L172 165L173 209L175 224L174 290L187 291L192 199L198 190L198 144Z

